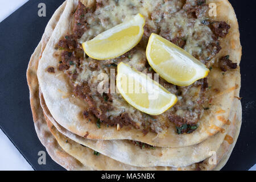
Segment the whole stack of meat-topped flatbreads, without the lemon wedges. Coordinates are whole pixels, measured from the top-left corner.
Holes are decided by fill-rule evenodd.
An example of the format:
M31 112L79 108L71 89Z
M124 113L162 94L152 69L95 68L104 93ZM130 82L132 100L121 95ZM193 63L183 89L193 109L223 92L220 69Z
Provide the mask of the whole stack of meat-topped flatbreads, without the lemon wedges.
M159 9L156 10L156 5L159 5L158 1L140 2L145 3L147 7L146 9L144 9L144 7L139 5L136 1L131 2L136 5L131 7L131 9L133 9L133 13L128 14L128 18L122 15L121 20L118 19L121 16L118 17L116 14L114 18L114 13L116 13L115 11L109 14L106 12L113 10L113 7L117 10L119 10L119 8L130 9L126 2L121 2L120 4L119 2L115 2L115 4L113 4L114 2L112 1L67 1L67 6L65 6L64 3L64 5L62 5L53 15L43 35L42 46L40 43L38 48L36 48L34 55L31 57L27 72L28 85L30 86L31 93L31 108L34 121L37 123L35 127L39 135L39 139L46 146L47 151L52 156L53 160L56 160L57 163L61 164L61 166L64 166L67 169L115 170L116 168L113 168L113 166L116 164L122 166L119 168L119 170L221 169L225 165L233 150L241 126L241 102L234 97L238 97L240 91L241 80L239 62L241 59L241 45L239 40L240 35L238 30L238 23L232 6L228 1L207 1L206 4L204 1L199 2L188 0L185 3L181 3L181 1L165 1L161 7L157 6ZM206 7L208 7L208 4L212 2L216 3L217 5L217 13L221 13L221 11L226 11L227 9L231 8L230 13L222 15L221 17L217 16L217 19L209 17L205 18L204 14L207 12ZM130 5L133 5L133 3L130 3ZM93 36L96 36L104 30L108 30L115 24L129 19L129 16L137 13L142 13L144 16L146 16L144 36L137 47L131 49L131 51L125 53L125 55L117 57L116 59L105 60L105 63L103 64L98 64L97 60L93 60L86 55L82 55L80 50L80 45L82 42L92 39ZM195 27L190 29L190 31L195 30L193 34L189 35L189 31L184 33L187 35L187 38L181 36L180 32L179 36L174 36L177 35L176 31L180 30L167 31L168 27L166 27L166 23L164 23L164 20L162 20L168 17L171 19L168 20L168 23L177 24L177 22L172 22L172 20L181 20L184 18L182 17L184 14L187 16L187 19L185 18L185 22L196 24ZM98 15L98 17L96 15ZM108 17L105 17L106 15ZM148 22L147 18L150 19ZM97 19L98 22L100 22L100 26L97 24ZM109 19L114 20L110 20L111 23L109 23ZM201 24L207 26L201 27L200 29L201 24L198 20L200 20ZM155 26L156 24L164 28L160 28L160 30L158 30L159 27ZM68 27L64 27L64 25L68 25ZM200 30L207 32L207 35L204 35L204 31ZM175 94L181 98L179 98L180 103L178 102L178 105L175 108L172 108L171 111L167 111L167 113L159 116L152 116L147 114L145 115L144 113L139 113L141 111L138 111L135 108L131 109L130 107L132 106L124 104L126 101L123 100L122 97L118 96L118 93L114 93L114 96L113 94L109 95L109 93L106 93L103 96L98 95L97 91L95 90L98 82L92 82L92 80L95 80L95 75L101 73L102 71L108 73L108 70L106 71L106 69L109 67L115 67L115 65L121 61L130 64L132 67L143 73L152 72L152 68L150 69L150 67L148 67L148 65L144 62L146 60L146 56L144 55L143 51L147 43L148 36L151 32L155 32L166 39L170 39L171 42L184 48L200 61L203 61L203 63L206 64L211 70L207 79L199 80L191 86L182 88L169 84L160 78L160 84L172 92L175 92L174 88L176 88L177 93ZM195 49L192 48L195 47L195 38L193 38L193 36L195 36L195 34L202 34L202 32L203 36L200 35L199 37L200 40L203 39L203 43L198 41L196 44L200 42L205 46L205 38L210 38L209 36L212 36L212 39L209 39L207 44L208 47L205 46L205 49L201 49L201 54L197 54L193 52ZM218 38L218 36L221 38ZM40 53L39 49L41 49ZM45 53L47 51L51 52L52 55L49 52ZM196 51L198 51L198 49ZM65 64L67 61L65 61L65 59L63 60L63 58L65 58L65 56L70 57L69 55L71 52L72 58L69 58L69 61L72 61L74 64L68 63L67 67L67 64ZM47 59L53 58L54 60L56 57L59 57L60 61L56 65L52 64L52 60L48 61L47 63L47 59L44 58L44 53L46 54ZM207 59L204 59L205 55L208 56ZM232 57L235 60L232 60ZM38 106L39 85L37 83L37 78L35 77L37 74L36 69L39 60L40 63L38 71L41 72L42 75L55 75L55 79L57 78L57 80L59 79L60 81L56 82L57 85L53 85L53 82L56 80L53 79L53 82L52 80L48 80L48 82L43 82L42 85L58 88L58 86L61 86L61 82L63 82L65 84L64 88L67 90L57 89L57 92L61 93L61 96L58 97L61 97L62 100L68 99L70 102L69 104L72 105L72 108L70 107L70 110L68 110L69 114L77 113L76 109L81 109L77 117L79 118L79 122L73 122L73 118L69 118L71 119L69 120L69 123L65 123L65 120L63 121L53 117L52 112L57 112L57 110L51 110L47 104L44 104L43 97L45 96L43 92L40 92L40 102L43 107L43 111L42 108ZM79 61L78 67L76 61ZM51 62L52 65L49 65L49 62ZM44 71L40 69L40 64L46 68ZM75 65L74 67L79 68L79 71L77 71L77 68L74 69L72 65ZM95 70L97 67L100 68ZM88 68L92 70L87 72ZM220 74L222 77L220 77ZM40 77L39 74L38 77ZM88 79L92 85L88 85ZM222 80L222 82L220 82L220 80ZM42 85L40 84L40 86ZM89 90L88 86L90 88ZM91 88L93 88L95 92ZM51 92L52 90L55 90L55 88L50 88L49 90L48 89L49 88L46 89L47 92L49 90ZM190 93L195 92L195 90L197 90L197 94L192 96L193 99L195 97L195 100L193 100ZM181 92L181 94L179 92ZM183 94L183 92L185 94ZM92 93L96 94L92 95ZM55 94L56 93L53 93L53 95ZM117 96L115 94L117 94ZM56 99L56 96L53 97ZM86 97L90 97L90 99L88 100ZM103 97L103 100L101 97ZM199 104L202 102L201 100L203 100L202 105ZM95 105L90 105L92 104L90 101L93 101L93 104L96 105L101 105L103 103L103 106L108 108L108 110L105 112L101 106L95 107ZM104 101L107 102L107 104ZM188 102L191 104L193 101L196 101L194 106L199 105L201 110L199 108L197 108L197 110L190 109L190 113L186 113L185 111L184 114L184 110L187 110L184 109L184 106L188 106ZM205 107L205 101L208 102L209 107ZM224 105L224 102L228 104ZM65 101L59 101L55 104L50 103L49 105L50 107L51 105L59 105L59 111L61 111L61 109L65 108L65 104L67 104ZM73 107L74 105L77 107ZM229 106L226 107L227 105ZM118 112L115 113L115 111L118 110L118 107L122 107L122 111L119 112L119 115L117 114ZM125 109L123 109L123 107L125 107ZM113 110L109 111L109 108ZM96 112L94 112L93 109L95 109ZM63 111L64 110L61 112ZM110 117L108 116L106 119L106 113L108 112L112 114L114 113L114 115L111 115ZM42 113L46 118L42 117ZM136 114L130 115L134 113ZM198 114L197 117L195 117L196 121L194 123L188 122L188 119L191 119L191 121L195 120L195 118L191 118L191 114L193 115L195 113ZM60 114L61 113L59 113L59 115ZM64 117L69 115L67 113L62 114L64 114ZM189 118L185 118L189 114ZM71 115L69 115L69 117L71 117ZM140 118L140 116L142 117ZM147 117L152 119L152 121L148 122ZM137 122L131 121L131 118L135 119ZM99 119L100 127L98 127ZM104 121L104 119L106 119L106 121ZM53 135L49 134L49 130L46 127L45 121L47 121L49 130ZM82 123L84 121L85 123ZM183 122L181 123L181 126L186 125L187 129L183 130L182 127L179 127L180 121ZM145 125L148 126L148 123L150 123L149 127L145 127ZM230 125L230 123L232 123L232 125ZM40 125L42 125L42 129L40 129ZM117 130L118 126L121 126L121 130ZM193 128L196 126L196 129L191 130L191 126L193 126ZM88 128L86 129L86 127ZM96 129L94 127L96 127ZM85 135L84 129L86 129ZM158 131L155 131L155 129ZM110 131L110 133L108 133L108 131ZM119 131L122 131L123 133L120 133ZM90 135L90 132L93 132L93 134ZM47 138L52 138L50 139L52 140L52 143L47 142ZM71 141L69 144L65 144L67 139ZM233 139L233 142L230 142L231 139ZM56 140L58 144L56 144ZM82 146L80 144L82 144ZM49 146L52 147L52 150L49 149ZM139 146L143 146L143 149L139 148ZM150 151L147 147L145 149L145 146L148 148L152 147L156 150ZM169 148L170 146L182 146L184 148ZM200 148L200 146L203 147ZM191 152L196 152L193 150L195 150L197 147L200 148L197 150L199 155L190 155ZM207 159L209 157L209 151L206 149L207 147L209 147L208 150L213 149L214 151L217 151L217 165L209 164ZM100 151L100 153L102 153L102 159L104 162L107 162L110 165L106 167L104 162L98 163L96 161L93 163L92 159L95 158L95 156L92 155L93 150ZM145 150L147 150L148 155L150 156L148 160L144 160L145 158L143 158L143 152L145 152ZM61 152L58 153L59 151ZM167 151L166 154L162 154L163 151ZM178 155L178 151L183 152ZM122 155L125 154L128 157L122 158L122 155L118 155L120 152ZM163 158L158 158L158 152L161 153L160 156L163 156ZM61 153L63 156L61 156ZM141 155L139 155L138 158L134 158L135 153ZM69 160L65 162L65 160L61 159L61 157L64 156L70 156L70 158L67 157ZM177 158L180 160L177 160ZM198 163L202 160L204 160L204 162ZM189 166L190 164L191 166ZM97 167L95 168L95 166Z

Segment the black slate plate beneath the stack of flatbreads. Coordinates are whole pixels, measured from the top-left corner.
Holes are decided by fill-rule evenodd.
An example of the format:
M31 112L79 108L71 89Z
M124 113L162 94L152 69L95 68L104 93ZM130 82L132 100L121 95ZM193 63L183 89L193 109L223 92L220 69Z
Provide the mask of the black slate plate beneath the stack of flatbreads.
M47 16L38 16L38 4L46 3ZM0 127L36 170L63 170L47 155L47 164L38 164L38 152L46 151L36 136L29 103L26 69L44 28L64 1L28 1L0 23ZM232 3L240 23L243 56L241 61L243 121L236 147L223 170L247 170L256 163L255 1ZM250 2L250 3L249 3Z

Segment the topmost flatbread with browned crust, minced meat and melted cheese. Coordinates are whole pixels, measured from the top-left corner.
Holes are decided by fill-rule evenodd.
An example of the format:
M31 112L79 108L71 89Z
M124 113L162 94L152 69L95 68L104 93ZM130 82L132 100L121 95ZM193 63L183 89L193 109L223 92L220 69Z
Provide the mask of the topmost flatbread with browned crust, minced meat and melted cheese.
M236 15L228 1L212 1L217 4L218 16L214 20L209 19L203 11L208 7L205 3L194 6L194 1L187 1L185 5L180 1L171 1L164 3L158 11L160 13L163 11L164 14L169 8L173 13L169 13L168 9L168 14L162 15L163 19L155 20L155 16L158 17L156 7L159 8L159 2L143 2L143 5L133 2L135 7L132 10L128 8L127 1L95 2L91 7L85 7L79 1L67 2L63 16L39 62L38 79L47 107L61 126L81 137L86 135L89 139L132 139L153 146L169 147L184 147L199 143L217 133L228 120L235 90L240 89L236 85L236 80L240 77L239 68L232 69L228 66L230 60L233 61L230 64L239 64L241 58ZM222 7L225 7L225 11L222 11ZM126 16L119 11L122 8L127 9ZM201 9L199 14L197 9ZM195 17L193 17L194 10ZM142 13L146 18L144 38L137 47L118 59L98 61L84 57L79 46L81 42L92 39L93 36L137 13ZM172 16L169 17L169 14ZM206 16L208 23L203 22ZM160 84L167 90L181 95L174 107L155 117L130 106L118 93L109 96L111 101L104 101L104 97L97 93L97 84L100 82L97 80L97 75L102 72L109 73L108 65L113 65L114 61L117 61L117 64L123 61L139 71L149 72L146 59L143 58L147 34L158 31L157 33L166 36L167 39L171 36L170 40L172 38L176 40L178 37L174 36L177 34L175 28L173 28L174 32L166 32L168 27L164 25L176 23L180 27L182 24L179 22L184 21L186 23L182 30L186 31L193 24L191 28L193 33L190 35L189 32L184 32L182 35L187 36L185 46L179 45L182 39L179 39L177 44L211 68L208 81L203 79L191 86L179 87L160 78ZM160 25L160 31L155 30L156 25ZM200 34L203 36L199 36ZM196 46L196 44L200 45ZM199 47L200 51L198 51ZM75 55L72 55L72 51ZM70 61L74 64L69 65ZM52 73L51 69L55 73ZM225 75L222 74L224 71L226 71ZM190 103L191 107L188 108L186 103ZM205 110L209 105L210 108ZM98 119L102 122L100 129L96 125ZM179 127L180 123L189 128L196 126L197 129L178 134L176 127ZM123 126L119 131L116 128L117 124Z

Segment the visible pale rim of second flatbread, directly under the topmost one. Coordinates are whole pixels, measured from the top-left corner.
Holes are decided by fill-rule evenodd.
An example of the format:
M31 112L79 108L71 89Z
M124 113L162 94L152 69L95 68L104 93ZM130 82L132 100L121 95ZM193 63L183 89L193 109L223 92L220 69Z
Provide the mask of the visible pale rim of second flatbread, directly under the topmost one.
M44 116L61 134L77 143L92 148L101 154L118 160L121 163L137 167L184 167L193 163L201 162L210 156L210 151L217 151L218 148L220 148L227 132L233 129L230 129L229 125L224 125L222 132L220 131L203 142L195 144L194 146L180 148L156 147L155 150L150 148L141 149L138 146L134 146L134 144L127 140L92 140L71 133L64 127L60 126L51 116L41 92L39 93L39 97ZM232 108L236 107L237 103L234 102ZM234 109L232 109L230 112L230 117L233 117L234 115L232 114L233 110ZM230 121L232 121L232 119L233 118L229 118Z

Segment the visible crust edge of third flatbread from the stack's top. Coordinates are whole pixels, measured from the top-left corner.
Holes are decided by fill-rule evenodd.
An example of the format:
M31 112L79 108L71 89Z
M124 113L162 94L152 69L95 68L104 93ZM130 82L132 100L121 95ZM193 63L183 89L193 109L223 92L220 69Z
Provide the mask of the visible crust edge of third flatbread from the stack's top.
M238 101L238 104L241 103ZM241 113L241 107L238 109L234 109L234 121L232 122L232 127L235 127L236 130L230 131L228 134L233 137L235 140L238 137L240 126L241 126L241 118L239 117L239 113ZM234 144L229 144L224 141L221 145L221 148L216 152L216 161L217 164L209 164L209 159L205 159L201 163L192 164L191 166L175 168L175 167L134 167L127 164L119 163L116 160L109 158L108 156L100 154L99 156L93 155L93 150L89 147L82 146L79 143L74 142L73 140L65 137L63 134L59 133L57 129L52 125L52 123L46 118L48 126L56 138L57 142L60 144L63 149L68 152L68 154L74 156L77 160L79 160L85 166L93 166L96 170L181 170L181 171L192 171L192 170L212 170L214 168L220 169L224 166L226 162L226 153L229 154L230 150L232 151ZM222 157L224 156L224 161L222 161ZM220 165L219 165L220 164Z

